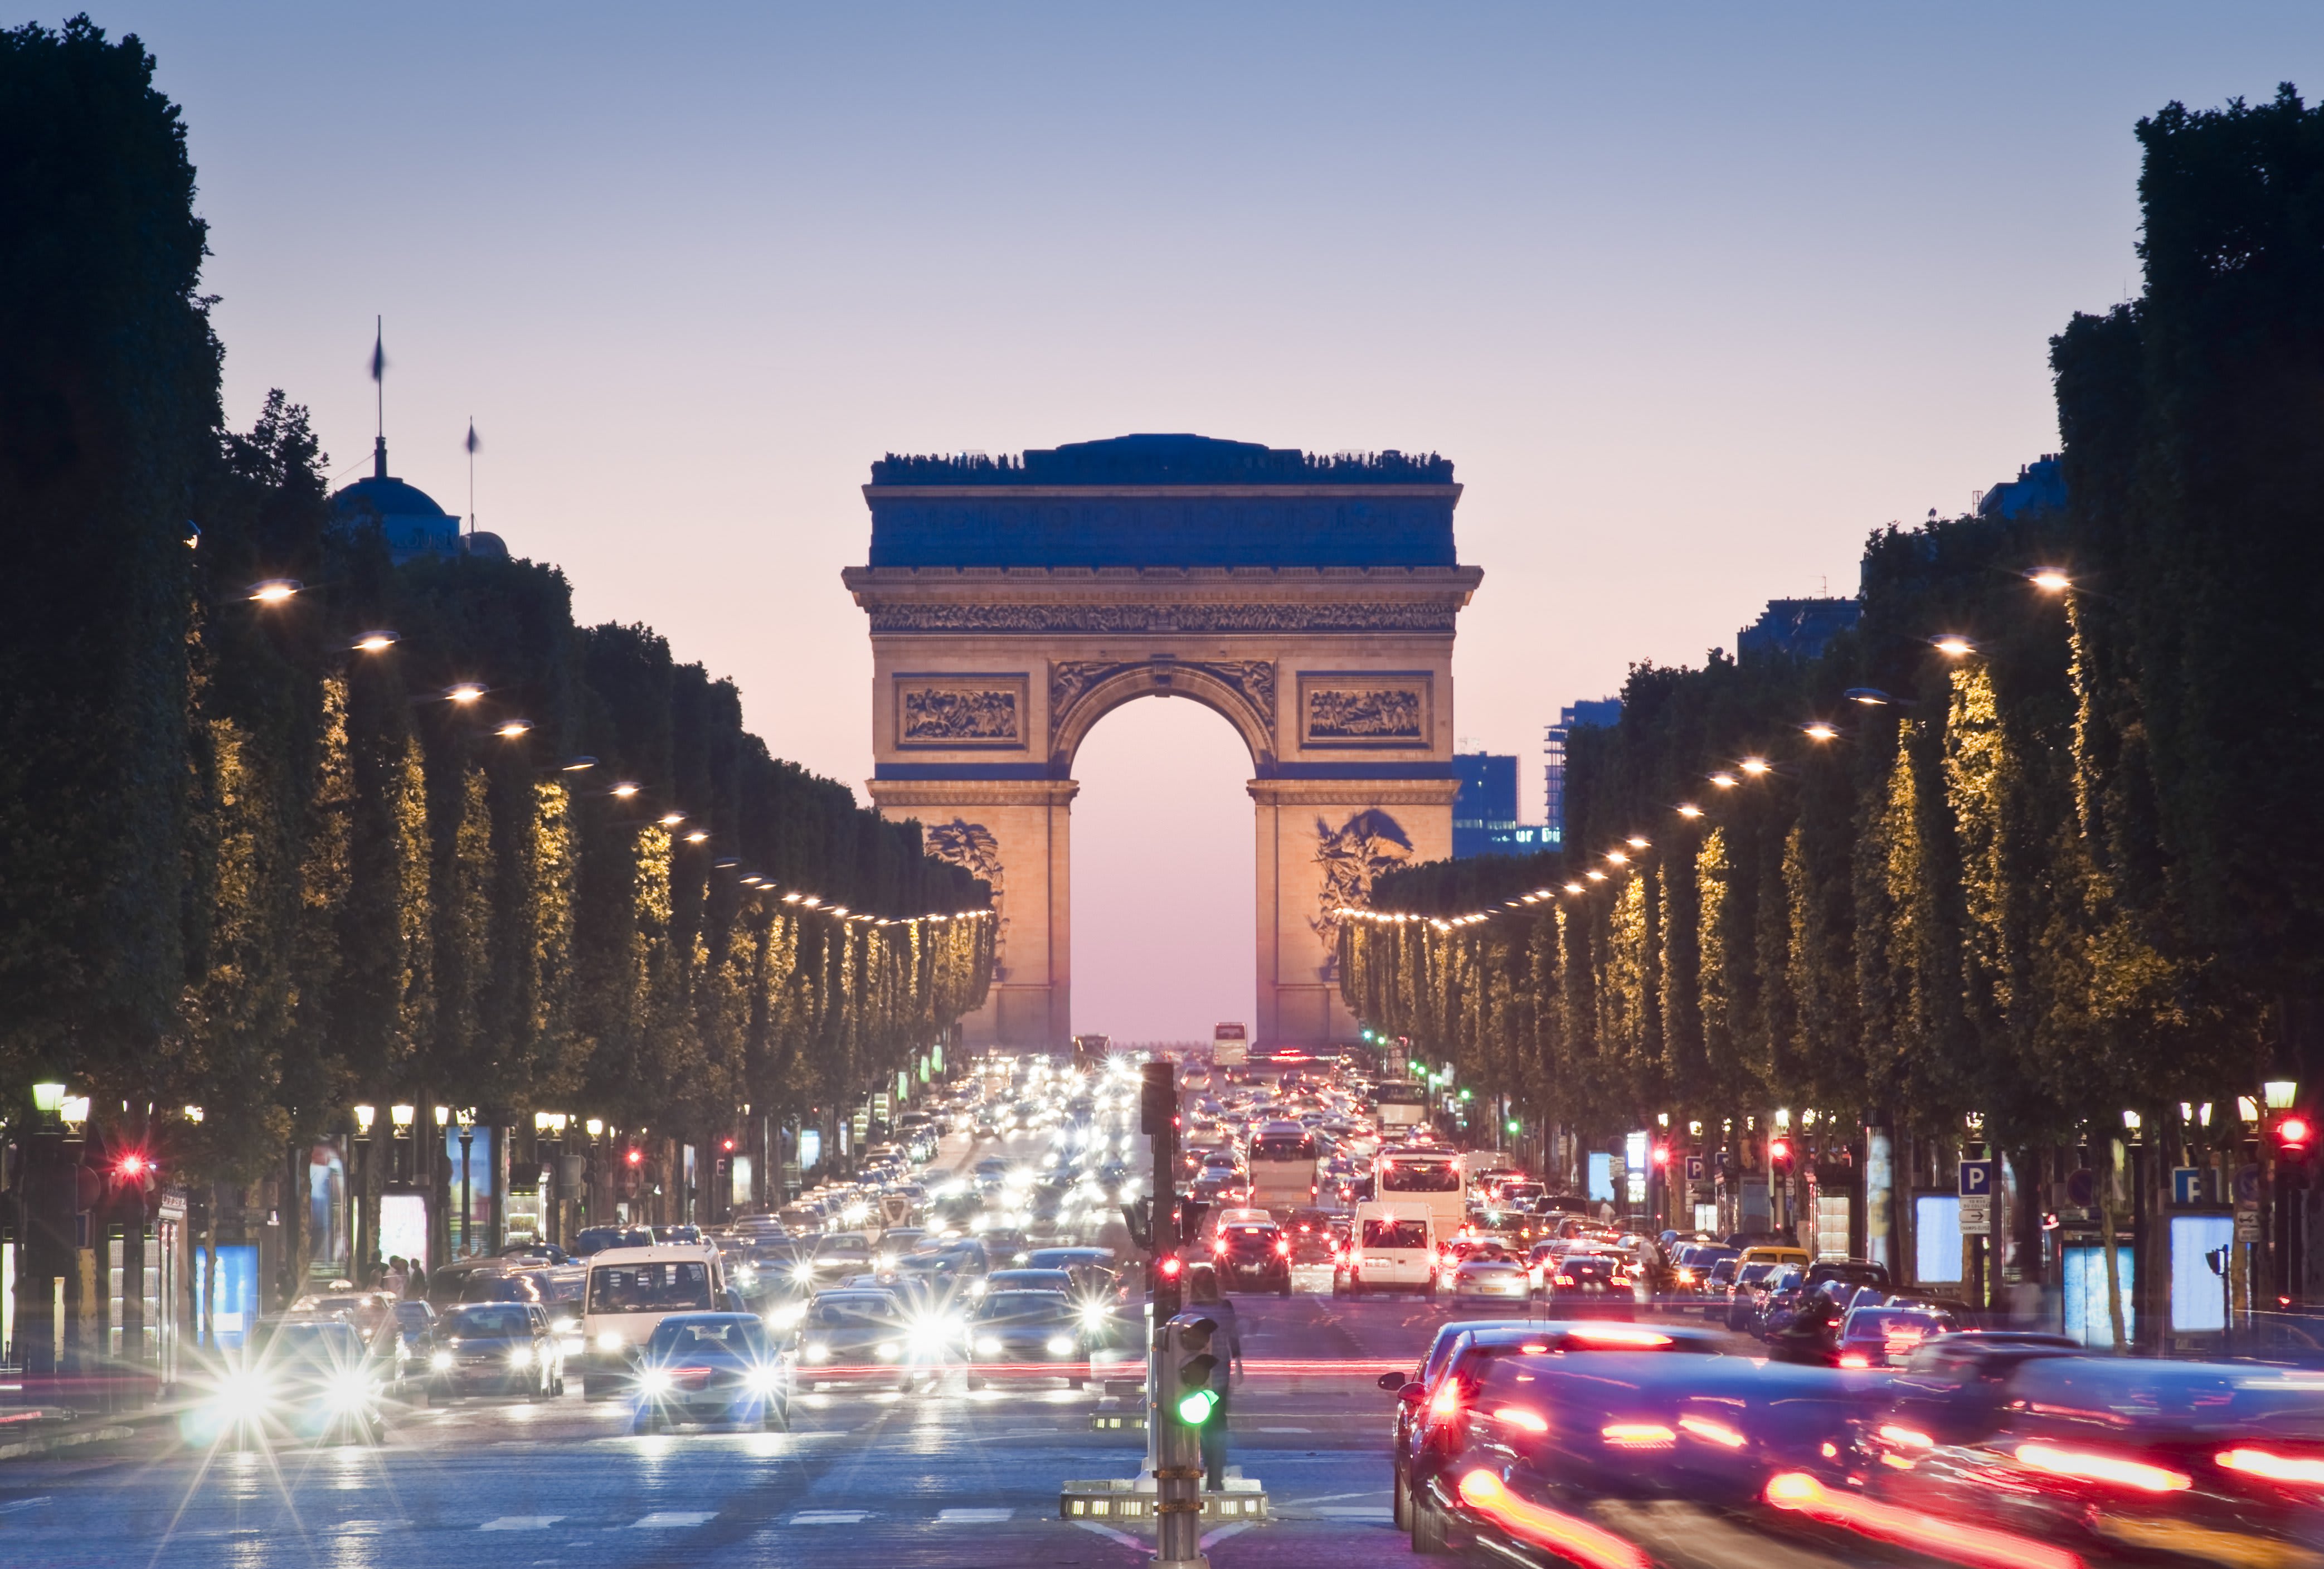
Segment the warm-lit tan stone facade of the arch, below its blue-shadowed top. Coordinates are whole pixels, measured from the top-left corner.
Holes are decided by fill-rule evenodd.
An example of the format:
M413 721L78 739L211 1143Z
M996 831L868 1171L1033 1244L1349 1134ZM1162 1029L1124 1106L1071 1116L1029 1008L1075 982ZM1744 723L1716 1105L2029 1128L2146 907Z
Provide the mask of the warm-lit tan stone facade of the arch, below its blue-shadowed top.
M874 518L897 490L865 488ZM1013 493L988 477L976 500L1102 514L1088 502L1113 490ZM1262 493L1281 507L1332 490L1171 486L1169 497L1199 509ZM1362 493L1373 509L1411 502L1448 518L1459 486ZM1167 553L1167 542L1139 549ZM1250 751L1255 1041L1350 1039L1332 911L1360 904L1397 862L1452 853L1452 623L1480 576L1439 563L851 567L844 581L871 628L871 800L918 818L937 853L999 895L999 974L967 1041L1064 1048L1071 1037L1074 755L1136 697L1190 697Z

